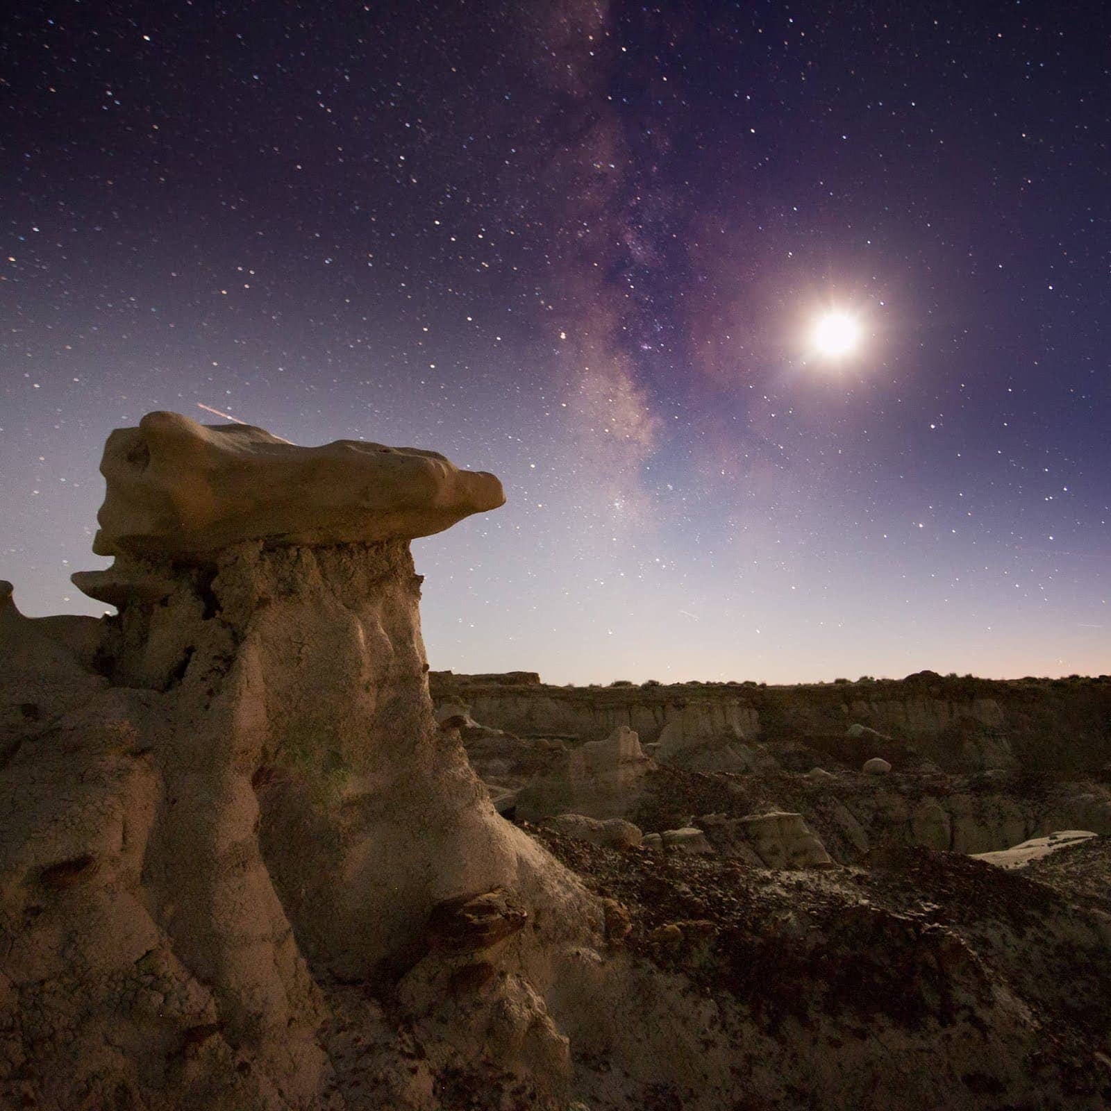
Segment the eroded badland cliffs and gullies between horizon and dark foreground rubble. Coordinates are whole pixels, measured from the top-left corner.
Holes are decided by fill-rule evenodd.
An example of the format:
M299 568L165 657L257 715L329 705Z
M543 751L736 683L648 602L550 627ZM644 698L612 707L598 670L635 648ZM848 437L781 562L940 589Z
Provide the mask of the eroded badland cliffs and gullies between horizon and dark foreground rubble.
M714 813L788 810L842 863L885 844L977 853L1059 829L1111 833L1111 682L552 688L507 678L438 673L432 689L471 715L467 748L501 809L531 820L572 811L655 834ZM605 777L578 782L562 769L605 743L587 738L613 720L664 724L641 738L651 767L623 784L610 777L604 793ZM500 731L484 740L483 727ZM549 755L552 744L563 754ZM883 774L864 773L869 761Z

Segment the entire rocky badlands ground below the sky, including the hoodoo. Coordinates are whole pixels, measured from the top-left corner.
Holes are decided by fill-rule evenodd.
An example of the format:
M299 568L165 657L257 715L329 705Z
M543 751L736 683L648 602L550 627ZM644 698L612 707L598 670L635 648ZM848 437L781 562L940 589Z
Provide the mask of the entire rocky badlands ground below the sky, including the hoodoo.
M434 452L151 413L0 584L0 1105L1105 1108L1111 679L429 671Z

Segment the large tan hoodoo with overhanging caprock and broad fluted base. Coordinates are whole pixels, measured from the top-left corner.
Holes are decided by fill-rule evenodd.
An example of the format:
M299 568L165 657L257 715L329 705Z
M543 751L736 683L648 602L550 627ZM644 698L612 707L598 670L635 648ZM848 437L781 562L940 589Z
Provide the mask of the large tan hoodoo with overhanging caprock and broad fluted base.
M408 546L501 484L434 452L174 413L113 432L101 470L94 549L116 564L74 581L118 617L0 601L0 983L29 1017L27 1105L146 1105L174 1069L181 1105L314 1105L322 978L408 978L434 1012L427 985L471 958L430 915L491 892L514 910L473 947L500 975L486 1011L520 1029L501 1059L481 1023L452 1052L512 1072L547 1039L564 1068L542 1102L567 1079L553 934L587 943L601 914L438 727Z

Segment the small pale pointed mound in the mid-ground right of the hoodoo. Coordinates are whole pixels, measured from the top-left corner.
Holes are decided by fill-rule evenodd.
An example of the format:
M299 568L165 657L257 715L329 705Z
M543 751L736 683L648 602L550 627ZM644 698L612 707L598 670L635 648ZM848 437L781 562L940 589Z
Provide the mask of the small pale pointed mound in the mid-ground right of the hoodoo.
M563 750L550 771L520 791L517 814L533 821L564 812L623 817L635 807L644 777L654 767L631 729L615 729L602 741Z

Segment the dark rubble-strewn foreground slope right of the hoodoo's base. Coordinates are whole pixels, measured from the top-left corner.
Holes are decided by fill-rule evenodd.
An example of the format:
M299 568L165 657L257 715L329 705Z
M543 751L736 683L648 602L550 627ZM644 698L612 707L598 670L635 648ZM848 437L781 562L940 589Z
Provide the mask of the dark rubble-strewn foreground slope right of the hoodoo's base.
M654 967L654 984L684 984L668 997L659 1038L622 1023L597 1053L579 1043L573 1087L591 1093L592 1108L642 1107L650 1085L707 1111L739 1100L1094 1111L1111 1099L1111 1074L1095 1058L1111 1019L1102 912L1022 872L910 849L883 869L772 879L721 857L618 854L536 834L627 909L622 952ZM1082 982L1047 974L1059 960ZM651 989L638 998L642 1018L654 998ZM628 1005L604 990L590 1003L608 1013ZM735 1049L723 1047L739 1044L760 1069L735 1071ZM695 1052L693 1074L678 1063L681 1045Z

